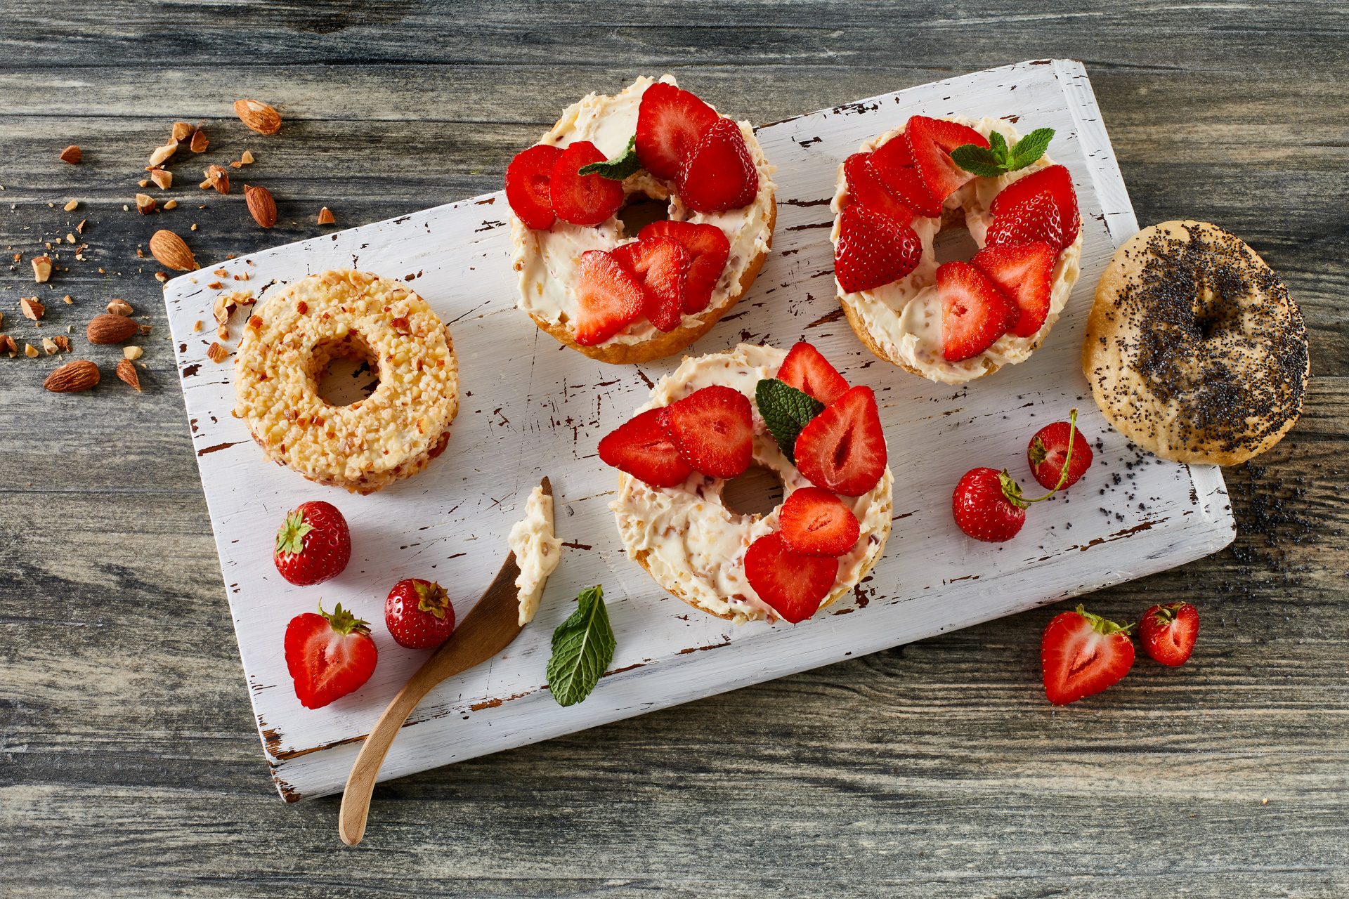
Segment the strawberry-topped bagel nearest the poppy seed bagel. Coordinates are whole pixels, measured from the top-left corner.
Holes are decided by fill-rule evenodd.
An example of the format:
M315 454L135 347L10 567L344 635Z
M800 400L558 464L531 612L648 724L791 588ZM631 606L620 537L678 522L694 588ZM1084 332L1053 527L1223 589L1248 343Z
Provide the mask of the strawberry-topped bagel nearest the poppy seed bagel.
M913 116L839 166L834 271L867 349L960 384L1014 365L1050 333L1078 279L1082 222L1068 170L1002 119ZM938 264L938 232L979 247Z

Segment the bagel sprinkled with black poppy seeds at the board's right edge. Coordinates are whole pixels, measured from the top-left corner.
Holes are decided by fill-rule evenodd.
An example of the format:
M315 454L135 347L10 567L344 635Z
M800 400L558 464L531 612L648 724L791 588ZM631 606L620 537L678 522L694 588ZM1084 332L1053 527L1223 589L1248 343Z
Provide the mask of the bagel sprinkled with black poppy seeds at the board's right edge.
M1101 275L1082 372L1110 425L1143 449L1236 465L1296 423L1307 332L1288 288L1240 237L1167 221L1130 237Z

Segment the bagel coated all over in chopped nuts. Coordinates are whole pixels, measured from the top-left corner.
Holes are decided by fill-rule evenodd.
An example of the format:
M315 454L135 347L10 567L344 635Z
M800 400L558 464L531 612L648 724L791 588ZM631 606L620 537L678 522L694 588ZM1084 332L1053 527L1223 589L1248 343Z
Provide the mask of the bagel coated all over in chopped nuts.
M351 406L318 396L335 357L378 360L379 387ZM459 411L449 329L391 278L325 271L272 294L235 356L235 416L268 458L352 493L411 477L445 449Z

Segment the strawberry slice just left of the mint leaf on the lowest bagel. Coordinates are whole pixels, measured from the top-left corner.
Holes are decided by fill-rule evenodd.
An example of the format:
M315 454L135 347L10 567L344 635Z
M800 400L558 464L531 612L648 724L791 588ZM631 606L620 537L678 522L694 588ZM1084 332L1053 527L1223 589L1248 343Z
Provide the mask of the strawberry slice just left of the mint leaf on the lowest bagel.
M739 477L750 466L754 414L745 394L712 384L665 408L665 433L693 470L708 477Z

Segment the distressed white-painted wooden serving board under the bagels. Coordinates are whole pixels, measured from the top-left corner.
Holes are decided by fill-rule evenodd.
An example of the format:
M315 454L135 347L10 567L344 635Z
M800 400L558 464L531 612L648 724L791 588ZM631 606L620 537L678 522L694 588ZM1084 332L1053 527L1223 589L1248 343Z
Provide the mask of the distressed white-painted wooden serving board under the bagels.
M913 113L1014 117L1023 133L1055 128L1050 154L1072 171L1082 209L1082 278L1045 345L1029 361L965 388L876 360L842 321L834 295L828 198L838 164L863 139ZM809 340L850 383L876 390L894 470L896 520L884 558L851 604L796 627L734 627L664 594L626 558L607 507L615 473L595 447L679 360L595 363L558 346L517 311L500 193L208 267L248 272L255 291L335 267L406 276L449 323L465 391L449 446L422 474L374 496L314 485L263 457L231 416L232 360L206 357L217 292L206 283L214 278L204 270L167 284L192 438L248 691L286 799L341 790L357 741L428 655L401 648L384 629L390 586L405 577L438 580L449 586L456 613L465 615L505 558L506 534L544 474L552 477L557 530L569 549L538 617L500 656L442 683L422 702L382 778L1012 615L1172 567L1232 540L1218 469L1133 452L1105 425L1079 369L1097 279L1116 245L1137 229L1081 63L1027 62L951 78L765 125L758 139L777 166L773 252L750 294L689 352ZM237 286L229 280L228 287ZM236 313L235 336L241 318ZM198 319L208 326L193 333ZM1033 507L1009 543L962 535L950 511L960 474L974 465L1008 466L1032 488L1025 445L1072 406L1082 410L1082 431L1099 441L1091 472L1067 496ZM344 512L352 558L336 580L295 588L275 571L271 546L286 511L310 499ZM594 694L564 709L545 687L549 639L577 592L592 584L604 585L618 650ZM308 710L295 700L282 635L293 616L320 600L329 609L341 602L372 623L379 664L363 689Z

